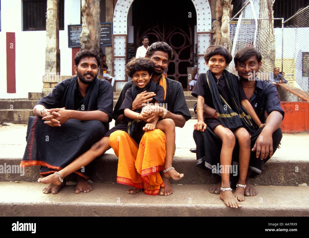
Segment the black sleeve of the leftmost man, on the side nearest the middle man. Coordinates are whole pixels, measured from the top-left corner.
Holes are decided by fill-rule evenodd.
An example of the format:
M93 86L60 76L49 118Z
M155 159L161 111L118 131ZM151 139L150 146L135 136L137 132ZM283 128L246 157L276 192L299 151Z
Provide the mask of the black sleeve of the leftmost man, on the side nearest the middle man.
M112 121L113 99L112 85L106 80L102 81L99 88L97 108L108 115L108 122Z

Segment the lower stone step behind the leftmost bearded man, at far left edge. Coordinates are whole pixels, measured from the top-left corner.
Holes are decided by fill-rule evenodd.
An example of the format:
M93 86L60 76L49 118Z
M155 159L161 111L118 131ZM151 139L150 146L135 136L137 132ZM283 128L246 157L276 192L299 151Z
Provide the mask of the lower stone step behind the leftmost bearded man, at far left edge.
M28 118L34 116L33 110L31 109L17 109L17 110L0 110L0 120L2 122L12 123L28 123Z

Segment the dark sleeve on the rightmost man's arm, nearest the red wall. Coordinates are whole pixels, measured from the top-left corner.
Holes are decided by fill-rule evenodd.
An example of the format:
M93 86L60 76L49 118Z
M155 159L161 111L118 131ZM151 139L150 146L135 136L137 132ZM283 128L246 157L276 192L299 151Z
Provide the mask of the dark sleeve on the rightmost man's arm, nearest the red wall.
M266 95L265 110L267 114L269 115L273 111L278 111L282 114L282 120L283 120L284 111L281 108L281 103L278 98L278 92L275 85L268 83L267 88L265 90L265 95Z

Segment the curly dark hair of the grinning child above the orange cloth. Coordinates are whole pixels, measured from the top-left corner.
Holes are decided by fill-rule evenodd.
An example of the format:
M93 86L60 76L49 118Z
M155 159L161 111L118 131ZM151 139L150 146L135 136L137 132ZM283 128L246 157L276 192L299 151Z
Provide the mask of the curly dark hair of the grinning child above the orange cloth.
M125 73L132 78L137 71L147 71L151 75L154 71L155 63L148 58L132 58L125 66Z

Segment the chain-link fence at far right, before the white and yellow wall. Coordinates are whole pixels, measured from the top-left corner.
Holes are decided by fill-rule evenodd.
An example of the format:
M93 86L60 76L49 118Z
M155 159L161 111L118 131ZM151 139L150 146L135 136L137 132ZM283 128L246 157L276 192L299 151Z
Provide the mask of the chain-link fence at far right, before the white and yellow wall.
M282 45L282 51L276 51L275 65L288 83L309 92L309 6L300 8L283 24L283 37L281 28L274 29L276 49Z

